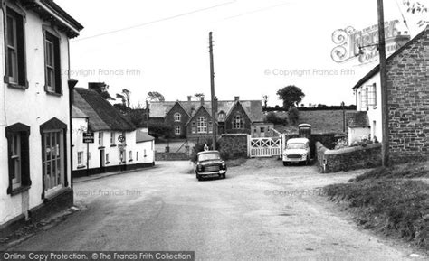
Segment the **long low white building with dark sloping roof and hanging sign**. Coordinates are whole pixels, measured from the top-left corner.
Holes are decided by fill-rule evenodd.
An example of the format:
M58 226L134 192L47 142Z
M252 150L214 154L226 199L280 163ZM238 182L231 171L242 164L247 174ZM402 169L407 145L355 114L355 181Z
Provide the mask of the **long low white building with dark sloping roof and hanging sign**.
M73 177L155 164L154 138L138 129L94 89L76 88L72 110ZM94 134L84 144L84 132Z

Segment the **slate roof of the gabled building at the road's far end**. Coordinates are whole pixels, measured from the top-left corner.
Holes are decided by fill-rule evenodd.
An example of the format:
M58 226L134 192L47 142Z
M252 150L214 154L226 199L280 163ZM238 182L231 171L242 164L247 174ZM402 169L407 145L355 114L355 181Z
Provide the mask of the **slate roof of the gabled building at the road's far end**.
M192 109L195 109L195 112L201 107L201 101L164 101L164 102L152 102L149 105L150 112L149 117L155 118L164 118L167 116L167 113L171 108L175 106L176 103L179 103L190 116ZM247 116L251 119L252 122L262 122L263 121L263 112L262 112L262 101L261 100L240 100L244 111ZM219 100L217 102L217 113L223 111L226 116L234 108L236 101L234 100ZM204 102L204 107L207 112L212 115L212 103L210 101Z

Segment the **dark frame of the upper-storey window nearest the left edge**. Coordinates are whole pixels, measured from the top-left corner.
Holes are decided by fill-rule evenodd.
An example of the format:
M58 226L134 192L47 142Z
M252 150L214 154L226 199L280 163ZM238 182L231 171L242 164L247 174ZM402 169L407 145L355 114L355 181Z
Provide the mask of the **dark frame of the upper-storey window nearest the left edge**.
M5 41L5 76L4 82L8 87L14 89L28 89L27 80L27 64L26 64L26 51L25 51L25 23L26 17L24 9L16 4L5 3L2 6L4 10L4 41ZM11 81L9 73L11 71L9 66L9 49L12 49L8 44L9 23L8 18L12 17L16 21L16 28L14 30L14 49L16 52L16 82Z

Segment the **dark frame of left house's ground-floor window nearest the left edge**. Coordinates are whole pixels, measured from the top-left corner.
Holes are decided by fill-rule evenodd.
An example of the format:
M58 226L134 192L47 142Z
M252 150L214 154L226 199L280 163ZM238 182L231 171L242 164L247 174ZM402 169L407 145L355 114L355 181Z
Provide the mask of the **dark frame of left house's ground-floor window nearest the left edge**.
M26 126L22 123L16 123L12 126L5 128L5 135L7 139L7 164L8 164L8 181L9 186L7 188L7 194L16 195L23 191L28 191L32 185L30 175L30 126ZM21 169L21 186L13 187L13 176L14 167L12 159L12 142L13 136L19 135L20 137L20 169Z

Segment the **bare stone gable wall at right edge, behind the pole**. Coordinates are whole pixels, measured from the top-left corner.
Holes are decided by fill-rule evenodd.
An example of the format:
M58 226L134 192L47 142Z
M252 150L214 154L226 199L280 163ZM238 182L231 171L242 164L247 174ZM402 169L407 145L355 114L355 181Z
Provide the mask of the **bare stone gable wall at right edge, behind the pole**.
M429 158L429 27L387 63L392 163Z

